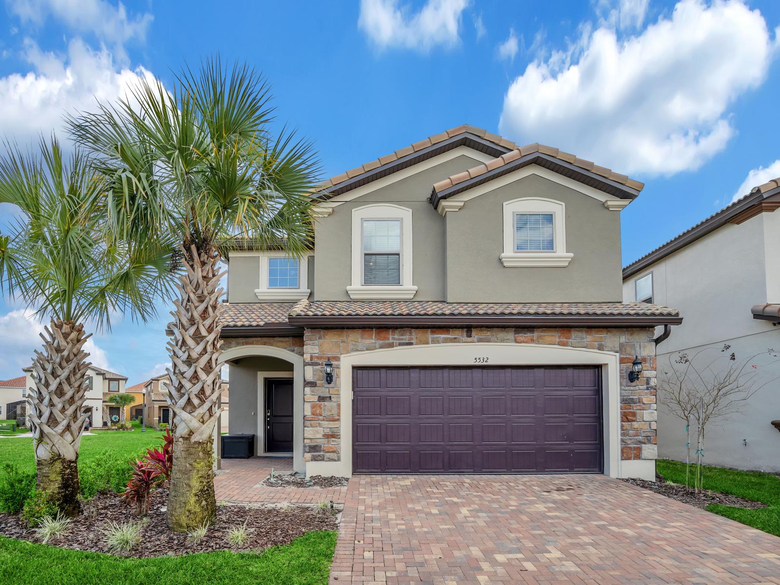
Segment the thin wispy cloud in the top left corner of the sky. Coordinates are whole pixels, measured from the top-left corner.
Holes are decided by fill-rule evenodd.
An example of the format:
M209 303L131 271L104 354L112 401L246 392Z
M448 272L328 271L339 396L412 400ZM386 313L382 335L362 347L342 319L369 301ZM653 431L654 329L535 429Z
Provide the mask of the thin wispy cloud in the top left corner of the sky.
M122 2L114 6L105 0L9 0L9 11L23 24L41 26L51 17L76 33L94 34L112 44L116 57L127 62L124 44L143 43L154 17L145 12L129 16Z

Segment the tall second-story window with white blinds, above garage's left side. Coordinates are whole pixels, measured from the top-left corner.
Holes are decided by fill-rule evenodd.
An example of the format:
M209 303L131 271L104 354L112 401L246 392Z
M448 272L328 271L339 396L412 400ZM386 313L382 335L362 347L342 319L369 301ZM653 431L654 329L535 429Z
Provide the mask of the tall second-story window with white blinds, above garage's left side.
M363 220L363 285L401 284L401 220Z

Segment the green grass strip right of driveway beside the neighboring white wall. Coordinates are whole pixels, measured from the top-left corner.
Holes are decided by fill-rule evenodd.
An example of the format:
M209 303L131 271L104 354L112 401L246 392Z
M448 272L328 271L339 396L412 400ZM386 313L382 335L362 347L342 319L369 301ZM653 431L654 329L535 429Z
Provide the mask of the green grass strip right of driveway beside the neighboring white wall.
M693 473L693 466L691 470ZM685 484L684 463L659 459L658 473L675 484ZM754 502L763 502L767 507L758 510L719 504L708 505L707 510L780 536L780 477L758 471L737 471L705 466L704 489L736 495Z

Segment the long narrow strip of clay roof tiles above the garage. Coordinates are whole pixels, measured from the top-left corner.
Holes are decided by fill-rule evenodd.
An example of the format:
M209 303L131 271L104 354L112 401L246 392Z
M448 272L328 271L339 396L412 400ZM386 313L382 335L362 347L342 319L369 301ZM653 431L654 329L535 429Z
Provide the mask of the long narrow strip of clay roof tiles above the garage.
M668 316L679 312L649 303L445 303L442 301L303 301L290 317L445 315Z

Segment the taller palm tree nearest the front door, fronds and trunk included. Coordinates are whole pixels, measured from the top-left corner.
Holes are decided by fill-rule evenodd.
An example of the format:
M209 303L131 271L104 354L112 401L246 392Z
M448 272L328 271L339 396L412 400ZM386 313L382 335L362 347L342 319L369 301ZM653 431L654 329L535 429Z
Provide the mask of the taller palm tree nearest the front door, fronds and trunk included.
M310 249L310 191L318 163L310 143L271 130L271 96L247 66L219 58L183 69L170 93L144 80L131 97L69 119L74 139L115 181L122 237L167 232L184 272L176 287L168 353L174 456L167 520L188 531L216 516L213 436L222 341L220 268L225 250Z

